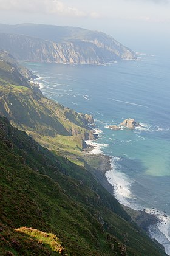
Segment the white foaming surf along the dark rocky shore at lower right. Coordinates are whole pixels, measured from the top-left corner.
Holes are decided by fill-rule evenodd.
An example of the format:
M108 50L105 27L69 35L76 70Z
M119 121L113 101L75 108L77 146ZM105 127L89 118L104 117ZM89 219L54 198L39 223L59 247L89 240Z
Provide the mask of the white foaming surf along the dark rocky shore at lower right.
M149 226L149 234L152 238L162 244L165 248L166 254L170 255L170 216L165 212L161 212L156 208L145 208L135 203L135 196L131 193L131 185L135 182L130 180L125 173L120 170L118 161L120 157L111 157L111 170L105 173L107 181L113 186L114 196L124 206L131 207L134 210L144 210L150 215L155 215L158 220L157 224Z

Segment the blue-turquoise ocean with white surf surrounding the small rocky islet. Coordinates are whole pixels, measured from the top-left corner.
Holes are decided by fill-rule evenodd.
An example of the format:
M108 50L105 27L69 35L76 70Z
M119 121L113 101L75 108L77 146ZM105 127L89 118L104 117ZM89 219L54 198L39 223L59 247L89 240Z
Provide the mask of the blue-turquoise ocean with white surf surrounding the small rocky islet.
M170 60L143 54L105 65L24 64L46 97L94 116L94 153L112 156L106 176L115 197L160 218L149 233L170 255ZM108 128L126 118L141 127Z

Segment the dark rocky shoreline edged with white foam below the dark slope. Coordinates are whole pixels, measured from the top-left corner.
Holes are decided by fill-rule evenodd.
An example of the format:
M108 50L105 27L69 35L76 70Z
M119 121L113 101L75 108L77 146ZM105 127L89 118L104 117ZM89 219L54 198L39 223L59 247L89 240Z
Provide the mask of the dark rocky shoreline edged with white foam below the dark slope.
M100 134L102 133L102 131L97 130L97 129L94 131L95 131L94 134L96 134L97 137L100 136ZM155 243L157 243L160 247L162 247L166 251L165 243L163 243L163 241L160 239L160 235L156 236L154 234L156 229L158 229L159 232L161 233L158 226L161 223L165 223L166 218L167 218L166 214L165 213L158 214L158 210L154 209L154 208L145 209L144 207L137 207L137 206L135 206L135 204L132 205L129 202L127 202L126 198L125 199L123 198L122 193L124 193L124 195L131 193L130 190L127 189L129 184L126 184L126 181L123 181L122 177L121 177L121 180L117 179L117 178L119 178L119 177L117 177L116 181L123 182L123 184L122 183L116 184L115 182L113 184L113 182L110 182L109 176L108 176L108 173L113 174L113 172L115 171L113 159L115 158L116 161L119 161L120 159L118 159L118 157L108 156L108 155L104 154L102 151L102 148L107 147L107 144L97 143L96 141L97 140L86 141L87 148L84 150L85 154L92 156L92 157L97 157L98 159L100 159L100 165L95 168L96 171L95 171L95 173L93 173L93 175L97 179L98 179L98 177L100 177L100 179L98 179L98 181L100 181L101 185L103 185L103 187L105 189L107 189L107 191L111 195L115 196L115 198L118 200L118 202L120 202L123 209L127 212L127 214L129 216L131 216L132 222L136 223L137 226L139 226L141 229L143 229L144 232L146 232L146 234L148 234L149 237ZM119 191L121 191L121 195L118 194ZM131 195L129 195L129 196L131 196ZM162 234L165 235L163 232L162 232ZM167 253L167 255L169 255L167 251L166 251L166 253Z

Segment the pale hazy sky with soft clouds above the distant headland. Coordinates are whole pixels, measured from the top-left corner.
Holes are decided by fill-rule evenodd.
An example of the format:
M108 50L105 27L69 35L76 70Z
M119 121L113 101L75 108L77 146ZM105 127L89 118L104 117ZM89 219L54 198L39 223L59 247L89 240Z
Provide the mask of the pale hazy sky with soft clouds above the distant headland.
M0 0L0 23L100 30L139 52L167 52L170 0Z

